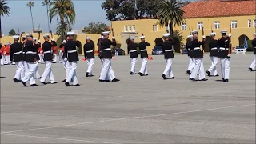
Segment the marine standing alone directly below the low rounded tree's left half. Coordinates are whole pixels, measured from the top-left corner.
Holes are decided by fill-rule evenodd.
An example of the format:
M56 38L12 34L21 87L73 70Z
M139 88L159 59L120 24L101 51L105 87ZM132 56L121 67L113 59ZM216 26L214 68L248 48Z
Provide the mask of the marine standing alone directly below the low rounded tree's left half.
M87 71L86 77L94 76L92 74L93 66L94 66L94 42L90 41L90 37L86 38L86 44L83 46L83 52L87 61Z

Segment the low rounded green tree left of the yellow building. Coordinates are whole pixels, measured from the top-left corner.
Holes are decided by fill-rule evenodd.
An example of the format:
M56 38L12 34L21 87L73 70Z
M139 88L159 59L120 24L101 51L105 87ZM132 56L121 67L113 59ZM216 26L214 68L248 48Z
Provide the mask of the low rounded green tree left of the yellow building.
M83 33L86 34L101 34L102 30L108 30L108 27L105 23L102 22L90 22L88 26L84 27L82 30Z

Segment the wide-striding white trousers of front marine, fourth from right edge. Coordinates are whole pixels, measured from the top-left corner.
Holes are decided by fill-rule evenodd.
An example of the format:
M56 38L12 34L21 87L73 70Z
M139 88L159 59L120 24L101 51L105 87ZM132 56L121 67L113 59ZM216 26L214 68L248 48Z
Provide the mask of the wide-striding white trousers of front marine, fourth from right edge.
M202 58L194 58L194 70L190 75L190 78L196 78L199 74L199 80L206 78Z

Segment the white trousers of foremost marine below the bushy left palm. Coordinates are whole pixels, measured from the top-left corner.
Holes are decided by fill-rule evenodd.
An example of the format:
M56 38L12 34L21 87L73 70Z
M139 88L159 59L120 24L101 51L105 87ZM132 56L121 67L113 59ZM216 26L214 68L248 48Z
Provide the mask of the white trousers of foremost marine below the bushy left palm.
M77 77L77 66L78 62L69 62L70 72L68 77L66 78L66 82L71 82L71 79L73 79L73 85L78 84L78 77Z

